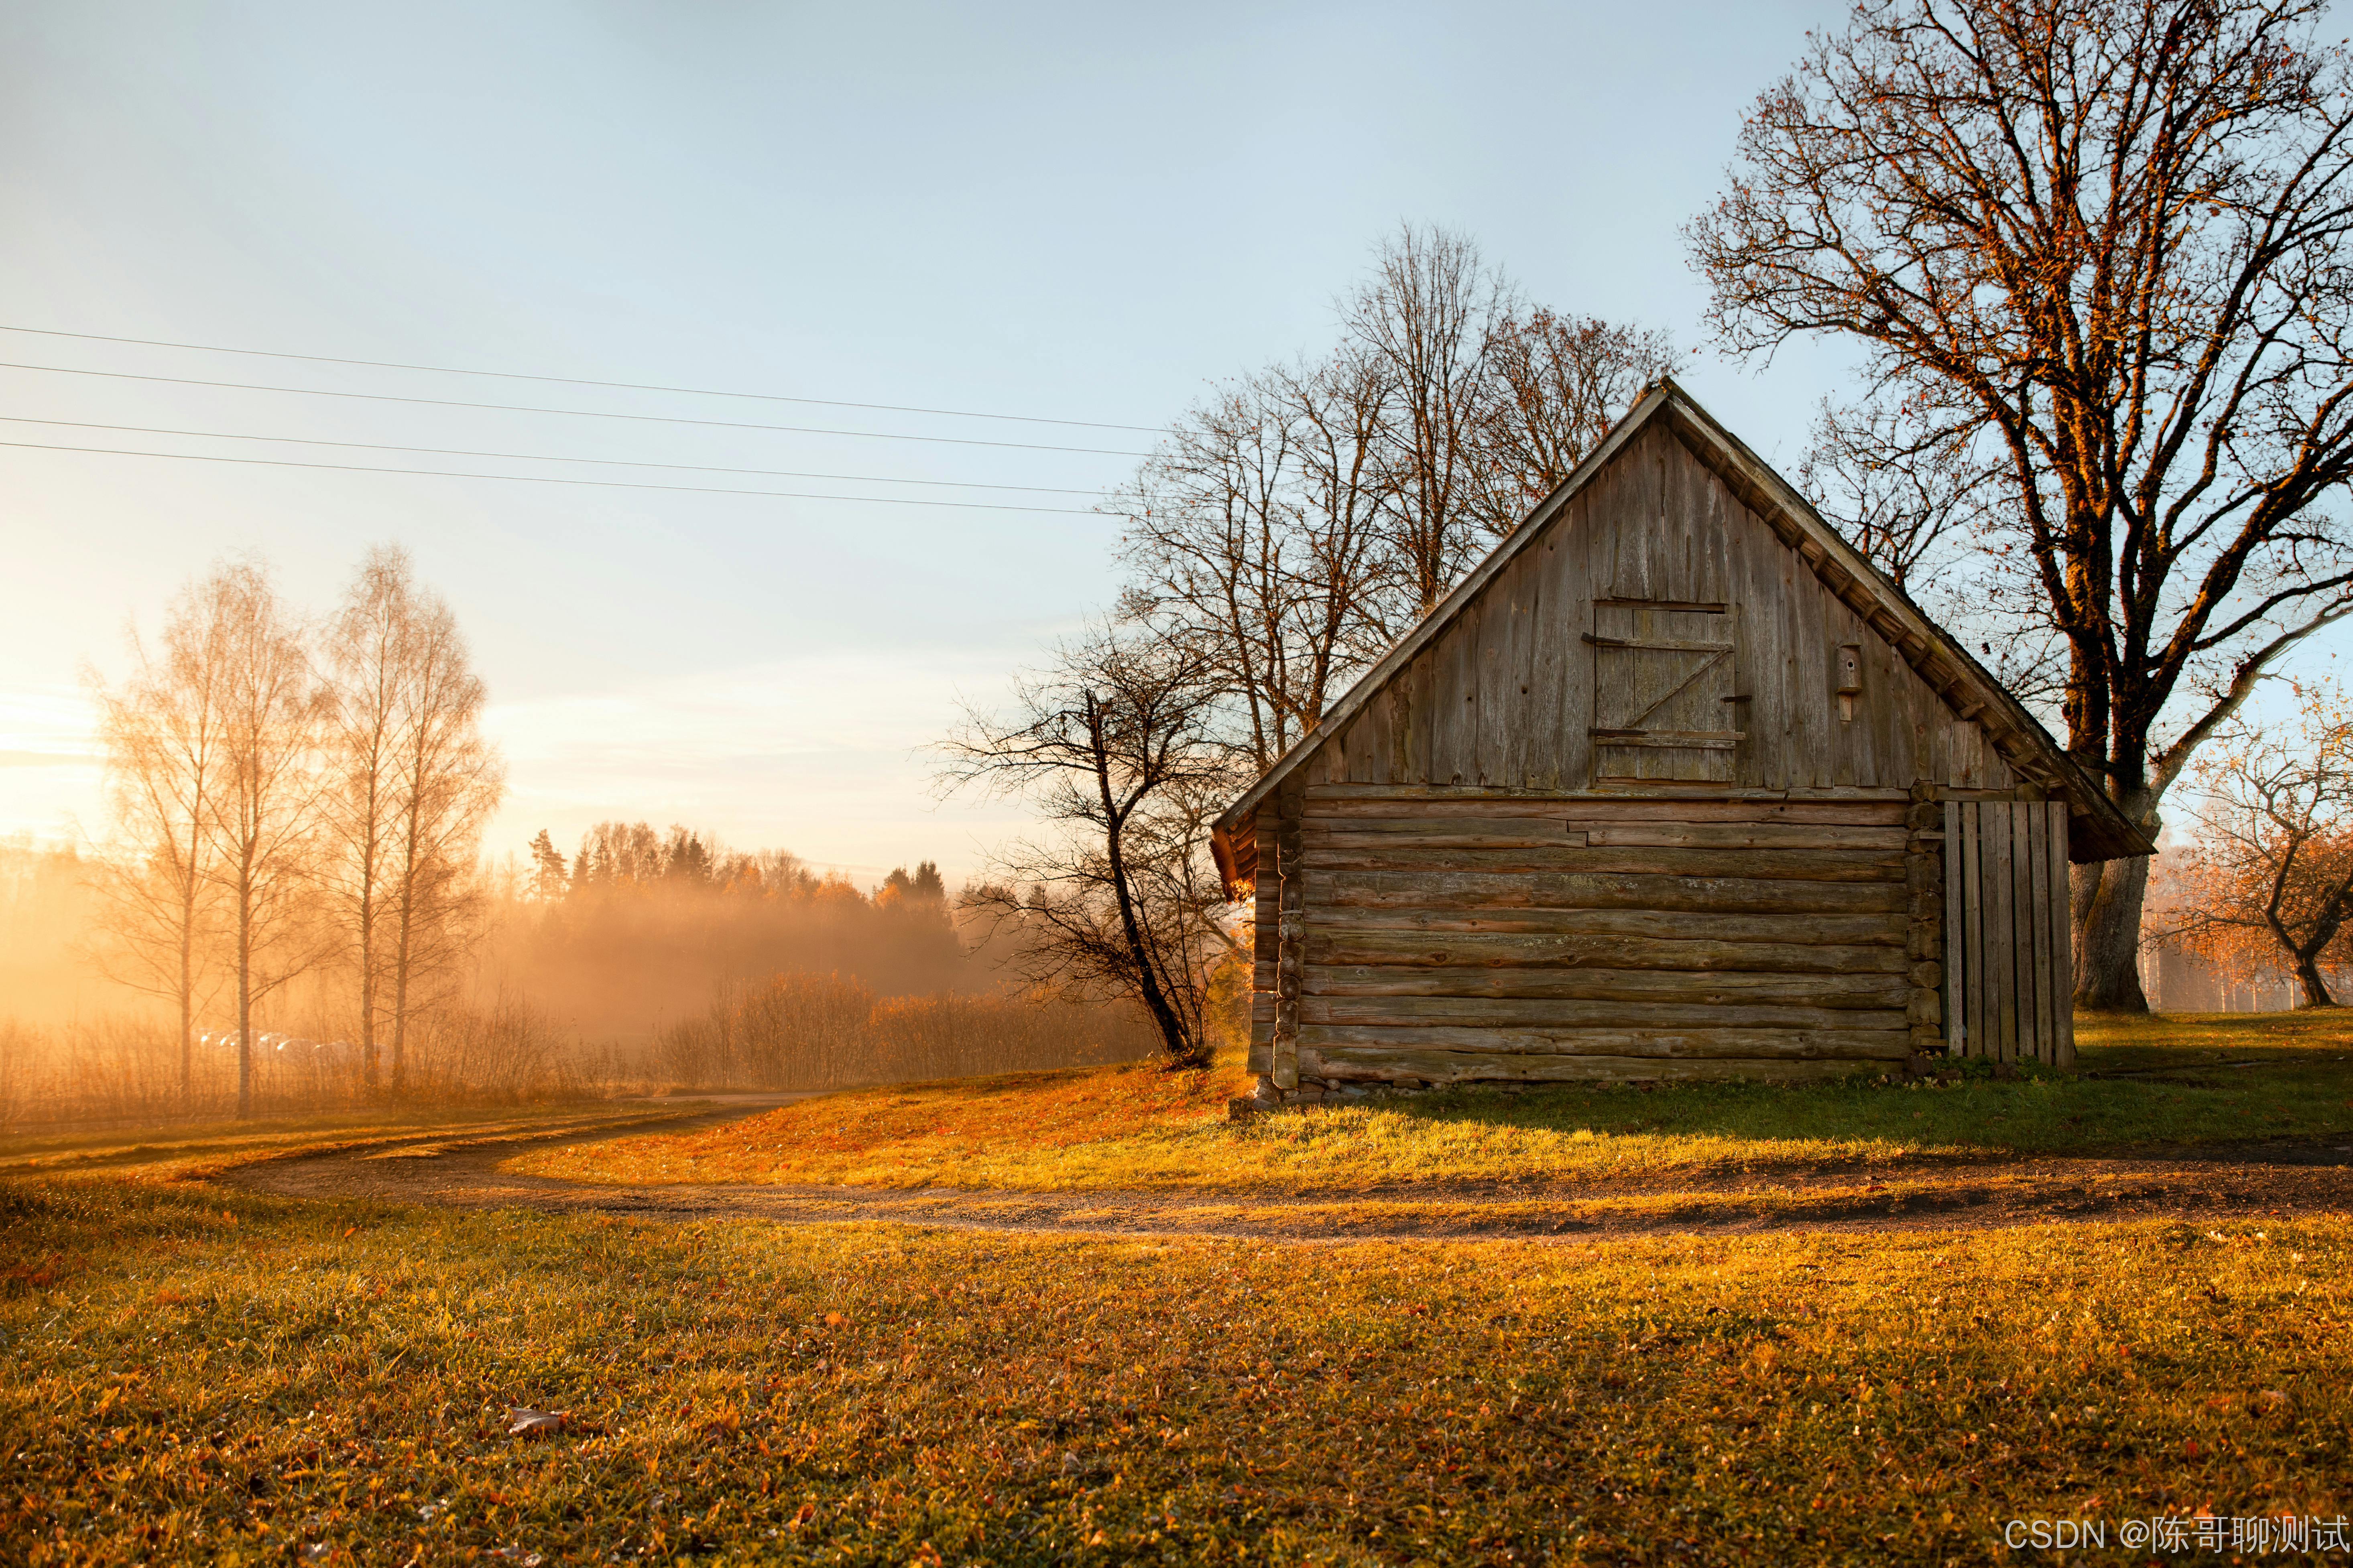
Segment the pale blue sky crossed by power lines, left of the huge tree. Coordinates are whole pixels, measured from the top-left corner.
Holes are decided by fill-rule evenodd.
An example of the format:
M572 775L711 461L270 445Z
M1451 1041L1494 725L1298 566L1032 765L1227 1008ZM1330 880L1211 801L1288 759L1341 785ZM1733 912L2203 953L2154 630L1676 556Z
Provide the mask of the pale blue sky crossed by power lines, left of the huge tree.
M21 0L0 9L0 324L1153 425L1325 343L1332 299L1414 219L1475 235L1534 299L1704 348L1678 226L1744 106L1840 9ZM0 360L1148 442L7 331ZM1826 353L1687 364L1784 461L1838 381ZM0 414L1082 491L1132 468L24 369L0 369ZM482 468L26 423L0 440ZM127 618L151 625L233 550L325 607L386 538L454 602L492 684L501 853L645 816L861 877L972 867L1012 816L936 806L920 748L958 693L995 696L1113 592L1092 515L0 447L0 832L96 825L75 672L122 668Z

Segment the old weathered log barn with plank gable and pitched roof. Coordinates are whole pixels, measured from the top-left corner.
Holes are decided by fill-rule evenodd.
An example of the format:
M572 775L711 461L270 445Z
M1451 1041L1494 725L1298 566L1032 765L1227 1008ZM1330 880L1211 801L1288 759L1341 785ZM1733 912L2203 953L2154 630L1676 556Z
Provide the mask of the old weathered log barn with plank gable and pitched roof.
M1304 1100L2068 1063L2066 867L2151 853L1673 381L1212 844Z

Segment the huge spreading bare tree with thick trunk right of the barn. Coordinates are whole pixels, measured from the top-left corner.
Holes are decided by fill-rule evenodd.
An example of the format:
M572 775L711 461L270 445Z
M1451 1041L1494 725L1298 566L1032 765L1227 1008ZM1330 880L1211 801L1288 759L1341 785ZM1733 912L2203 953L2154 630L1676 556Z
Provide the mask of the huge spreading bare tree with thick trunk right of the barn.
M2346 54L2304 0L1861 0L1689 228L1737 353L1861 343L1967 404L2132 820L2353 614ZM2181 698L2177 710L2177 698ZM2078 867L2078 1001L2144 1011L2148 863Z

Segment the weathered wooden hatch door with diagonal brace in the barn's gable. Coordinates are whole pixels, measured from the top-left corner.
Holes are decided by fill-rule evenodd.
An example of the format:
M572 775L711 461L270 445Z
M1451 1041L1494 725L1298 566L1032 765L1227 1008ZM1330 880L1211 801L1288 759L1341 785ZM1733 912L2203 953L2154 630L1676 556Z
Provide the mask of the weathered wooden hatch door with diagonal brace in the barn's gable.
M1729 604L1593 604L1595 783L1732 783L1737 623Z

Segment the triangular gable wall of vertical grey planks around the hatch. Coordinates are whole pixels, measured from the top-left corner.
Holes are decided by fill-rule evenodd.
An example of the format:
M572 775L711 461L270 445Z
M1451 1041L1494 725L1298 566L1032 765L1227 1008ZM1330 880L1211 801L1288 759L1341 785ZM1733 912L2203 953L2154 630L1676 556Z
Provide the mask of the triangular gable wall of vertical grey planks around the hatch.
M1626 602L1722 604L1661 614L1737 623L1729 710L1744 738L1729 778L1675 780L1645 769L1619 792L1908 790L1927 778L2009 792L1986 733L1962 719L1864 616L1786 548L1713 470L1654 425L1569 498L1485 592L1398 672L1308 766L1308 783L1588 790L1595 745L1595 644L1619 635ZM1602 616L1598 621L1598 614ZM1664 637L1664 632L1657 632ZM1699 642L1704 637L1692 637ZM1840 719L1838 649L1861 646L1854 719ZM1607 675L1607 670L1600 670ZM1607 717L1607 715L1605 715Z

